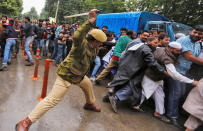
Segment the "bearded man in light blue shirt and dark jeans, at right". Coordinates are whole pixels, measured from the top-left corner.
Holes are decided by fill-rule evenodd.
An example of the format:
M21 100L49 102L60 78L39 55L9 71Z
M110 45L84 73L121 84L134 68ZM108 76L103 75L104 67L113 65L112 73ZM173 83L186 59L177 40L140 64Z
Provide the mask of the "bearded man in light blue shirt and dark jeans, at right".
M178 58L179 64L176 65L176 70L182 75L186 75L192 63L203 65L203 59L198 58L201 50L198 42L201 33L202 29L196 26L189 36L181 37L177 40L182 45L182 55ZM173 125L182 128L177 119L179 115L179 100L185 94L185 84L172 78L167 78L167 84L169 91L167 116Z

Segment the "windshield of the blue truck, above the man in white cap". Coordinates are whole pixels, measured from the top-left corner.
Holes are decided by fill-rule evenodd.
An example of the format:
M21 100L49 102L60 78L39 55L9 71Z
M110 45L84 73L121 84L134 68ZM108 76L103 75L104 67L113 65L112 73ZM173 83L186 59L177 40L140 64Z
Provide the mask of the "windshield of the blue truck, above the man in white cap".
M173 32L174 34L182 33L185 36L190 34L190 31L192 30L192 27L180 24L180 23L173 23Z

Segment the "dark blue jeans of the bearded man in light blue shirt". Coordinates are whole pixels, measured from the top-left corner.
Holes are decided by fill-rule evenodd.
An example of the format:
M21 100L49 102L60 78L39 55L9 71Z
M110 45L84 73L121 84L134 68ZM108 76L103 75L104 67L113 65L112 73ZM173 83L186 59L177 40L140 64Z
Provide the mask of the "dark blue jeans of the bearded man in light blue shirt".
M168 87L168 107L167 116L170 118L178 118L179 116L179 101L185 94L186 84L167 78Z

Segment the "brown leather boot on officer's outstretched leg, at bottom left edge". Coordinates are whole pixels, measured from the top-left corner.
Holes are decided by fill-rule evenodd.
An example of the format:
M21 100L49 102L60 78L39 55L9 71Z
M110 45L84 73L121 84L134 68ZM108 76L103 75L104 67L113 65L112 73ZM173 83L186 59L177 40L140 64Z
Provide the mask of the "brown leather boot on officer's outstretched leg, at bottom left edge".
M28 131L31 124L32 124L31 120L28 117L26 117L24 120L16 124L16 131Z

